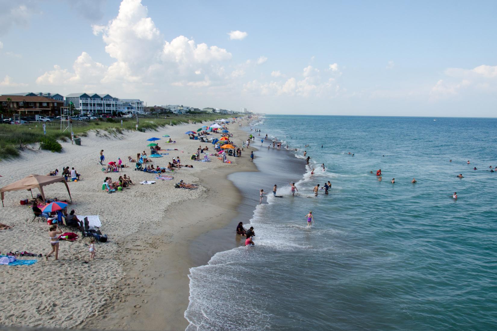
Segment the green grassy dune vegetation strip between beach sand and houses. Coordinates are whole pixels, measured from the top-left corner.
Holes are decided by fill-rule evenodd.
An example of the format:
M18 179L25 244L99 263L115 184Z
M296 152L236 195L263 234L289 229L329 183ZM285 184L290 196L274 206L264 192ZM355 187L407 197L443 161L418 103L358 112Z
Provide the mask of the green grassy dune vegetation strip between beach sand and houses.
M140 117L138 130L157 131L166 125L179 125L182 123L202 123L204 121L212 122L216 119L223 118L223 114L202 114L202 115L173 115L167 114L159 117ZM226 116L226 115L224 115ZM90 121L83 126L73 126L73 132L76 136L87 136L87 132L95 130L102 136L117 136L126 130L136 130L136 119L124 119L121 128L120 119L100 119ZM70 132L61 132L60 122L47 123L47 134L43 134L42 123L32 123L29 125L8 125L0 124L0 160L14 158L19 156L19 150L26 147L27 144L39 143L42 149L60 152L62 146L57 140L68 141L71 139Z

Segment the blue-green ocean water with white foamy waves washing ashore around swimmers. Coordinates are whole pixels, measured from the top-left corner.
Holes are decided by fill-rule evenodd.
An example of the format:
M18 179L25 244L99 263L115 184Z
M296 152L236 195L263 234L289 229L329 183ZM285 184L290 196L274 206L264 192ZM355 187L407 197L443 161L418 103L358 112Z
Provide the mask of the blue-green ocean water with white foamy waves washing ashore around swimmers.
M237 247L190 269L186 330L496 330L497 119L267 115L252 128L283 141L268 149L246 128L260 172L229 177L255 246L234 223Z

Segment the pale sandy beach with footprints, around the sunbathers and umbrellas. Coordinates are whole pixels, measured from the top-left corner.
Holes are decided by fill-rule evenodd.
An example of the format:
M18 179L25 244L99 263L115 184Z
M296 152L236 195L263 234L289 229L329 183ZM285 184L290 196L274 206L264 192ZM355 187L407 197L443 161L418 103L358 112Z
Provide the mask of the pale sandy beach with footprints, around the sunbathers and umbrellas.
M247 121L243 122L247 125ZM165 127L158 132L125 132L112 136L107 132L89 132L82 145L62 142L62 153L33 150L20 158L1 162L0 185L5 186L30 174L46 175L56 168L75 167L82 176L69 182L77 215L99 215L100 230L107 234L107 243L96 246L95 260L88 260L88 240L61 242L59 261L36 259L33 265L3 265L0 293L4 314L2 326L57 327L84 329L184 330L183 317L188 305L188 269L195 266L189 256L189 244L202 234L221 228L236 215L240 200L238 190L226 179L233 172L255 171L247 148L241 158L229 157L231 164L215 156L211 162L190 160L198 146L209 147L188 139L184 132L196 131L197 124ZM228 126L235 143L242 145L245 134L238 124ZM176 148L163 158L153 159L154 165L166 166L179 156L182 164L194 168L174 171L170 181L156 180L155 174L133 171L128 155L146 147L146 139L168 134L175 144L159 140L163 148ZM123 192L107 194L101 183L107 176L98 163L98 152L104 150L107 161L120 157L130 166L110 176L117 180L127 174L137 184ZM155 185L140 185L155 180ZM197 190L175 189L174 183L199 184ZM47 198L69 199L63 184L44 188ZM37 191L33 190L33 194ZM28 251L50 252L48 225L32 221L30 206L19 200L31 198L26 191L5 193L1 223L14 226L0 232L1 253ZM64 231L64 229L63 229ZM68 232L72 232L69 231ZM78 231L75 231L77 234ZM210 238L205 238L210 245ZM19 282L22 282L21 284ZM158 309L160 307L160 309Z

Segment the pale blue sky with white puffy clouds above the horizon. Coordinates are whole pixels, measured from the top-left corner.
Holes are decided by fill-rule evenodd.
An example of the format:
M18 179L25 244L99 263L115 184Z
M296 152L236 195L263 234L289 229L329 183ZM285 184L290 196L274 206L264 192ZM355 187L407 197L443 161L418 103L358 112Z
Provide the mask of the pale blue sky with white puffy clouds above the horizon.
M497 1L0 0L0 94L497 117Z

